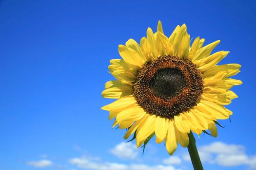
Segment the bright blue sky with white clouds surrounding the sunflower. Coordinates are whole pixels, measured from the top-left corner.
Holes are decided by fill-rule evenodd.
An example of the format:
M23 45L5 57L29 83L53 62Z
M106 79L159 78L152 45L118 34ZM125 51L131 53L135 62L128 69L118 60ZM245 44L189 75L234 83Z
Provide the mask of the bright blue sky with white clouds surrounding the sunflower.
M118 44L158 20L167 35L185 23L205 44L220 39L216 51L231 51L221 64L241 64L232 121L197 147L206 170L256 169L255 9L253 0L1 0L0 170L191 170L186 148L170 158L153 139L142 155L100 110L112 102L101 91Z

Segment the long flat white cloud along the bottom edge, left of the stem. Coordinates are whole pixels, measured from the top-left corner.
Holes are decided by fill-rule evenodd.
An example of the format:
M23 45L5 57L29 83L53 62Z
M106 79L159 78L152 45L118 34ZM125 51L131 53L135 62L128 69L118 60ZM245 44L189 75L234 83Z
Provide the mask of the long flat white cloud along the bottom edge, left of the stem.
M87 157L72 158L69 160L69 163L86 170L177 170L173 166L164 165L149 166L145 164L125 165L113 162L102 163Z

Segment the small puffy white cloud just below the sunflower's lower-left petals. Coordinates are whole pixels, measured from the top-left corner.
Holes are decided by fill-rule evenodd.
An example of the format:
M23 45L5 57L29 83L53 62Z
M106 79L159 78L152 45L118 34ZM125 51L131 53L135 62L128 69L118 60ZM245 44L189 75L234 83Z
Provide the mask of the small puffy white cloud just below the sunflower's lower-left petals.
M138 149L131 142L121 142L115 148L111 149L110 153L121 159L135 159L138 155Z

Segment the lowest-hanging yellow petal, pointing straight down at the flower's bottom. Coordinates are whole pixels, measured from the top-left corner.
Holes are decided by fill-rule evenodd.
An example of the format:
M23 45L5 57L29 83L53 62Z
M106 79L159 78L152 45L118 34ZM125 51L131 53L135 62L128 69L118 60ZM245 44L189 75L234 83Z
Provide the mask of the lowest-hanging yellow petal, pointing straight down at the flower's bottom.
M165 147L170 155L177 149L177 139L173 120L169 120L168 132L165 137Z

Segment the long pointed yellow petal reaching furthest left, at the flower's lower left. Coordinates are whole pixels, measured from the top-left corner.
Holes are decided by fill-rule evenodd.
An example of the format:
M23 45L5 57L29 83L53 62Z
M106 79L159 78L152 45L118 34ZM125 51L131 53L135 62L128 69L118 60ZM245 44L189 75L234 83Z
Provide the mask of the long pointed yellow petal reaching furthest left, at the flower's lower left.
M107 110L107 111L121 111L125 109L128 106L132 106L136 104L136 99L133 96L124 96L120 99L118 99L115 102L112 102L108 105L105 105L101 107L102 110Z

